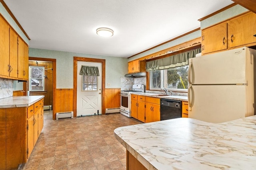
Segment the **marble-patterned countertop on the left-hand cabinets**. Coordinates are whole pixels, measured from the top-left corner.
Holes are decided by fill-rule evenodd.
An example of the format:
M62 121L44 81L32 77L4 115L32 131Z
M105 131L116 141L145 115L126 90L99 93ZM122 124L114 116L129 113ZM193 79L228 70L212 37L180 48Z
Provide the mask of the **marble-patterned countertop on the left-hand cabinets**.
M42 98L44 98L44 96L12 96L3 98L0 99L0 108L28 107Z

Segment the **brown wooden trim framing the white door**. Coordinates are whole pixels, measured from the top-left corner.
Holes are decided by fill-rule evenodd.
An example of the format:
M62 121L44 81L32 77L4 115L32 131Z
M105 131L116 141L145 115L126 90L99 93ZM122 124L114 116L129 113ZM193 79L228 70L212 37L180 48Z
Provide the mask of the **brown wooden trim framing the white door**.
M93 58L86 58L86 57L74 57L74 102L73 102L73 112L74 112L74 117L76 117L77 113L77 62L78 61L86 61L86 62L92 62L92 63L102 63L102 98L101 98L101 103L102 103L102 110L101 113L105 114L105 103L104 103L104 98L105 98L105 76L106 76L106 60L105 59L93 59Z

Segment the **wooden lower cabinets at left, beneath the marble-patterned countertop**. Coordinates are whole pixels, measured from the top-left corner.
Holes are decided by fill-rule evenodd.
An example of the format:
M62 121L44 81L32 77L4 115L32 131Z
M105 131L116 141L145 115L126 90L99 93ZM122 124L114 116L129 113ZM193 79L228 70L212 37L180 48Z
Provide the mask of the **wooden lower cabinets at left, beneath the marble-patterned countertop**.
M36 144L43 117L38 119L40 108L34 112L31 106L0 109L0 170L18 169L25 164Z

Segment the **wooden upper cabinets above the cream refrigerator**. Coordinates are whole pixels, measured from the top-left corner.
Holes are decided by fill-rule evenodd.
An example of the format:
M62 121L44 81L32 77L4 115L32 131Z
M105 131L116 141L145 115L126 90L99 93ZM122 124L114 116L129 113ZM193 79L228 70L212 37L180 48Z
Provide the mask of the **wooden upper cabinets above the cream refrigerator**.
M202 54L256 45L256 14L246 12L202 29Z

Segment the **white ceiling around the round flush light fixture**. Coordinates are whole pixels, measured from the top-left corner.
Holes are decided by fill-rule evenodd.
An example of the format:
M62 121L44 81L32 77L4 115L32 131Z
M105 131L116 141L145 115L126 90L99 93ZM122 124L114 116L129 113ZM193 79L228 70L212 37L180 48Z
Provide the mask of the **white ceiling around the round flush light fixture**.
M232 0L4 0L30 47L130 57L200 27ZM110 38L98 27L114 30Z

